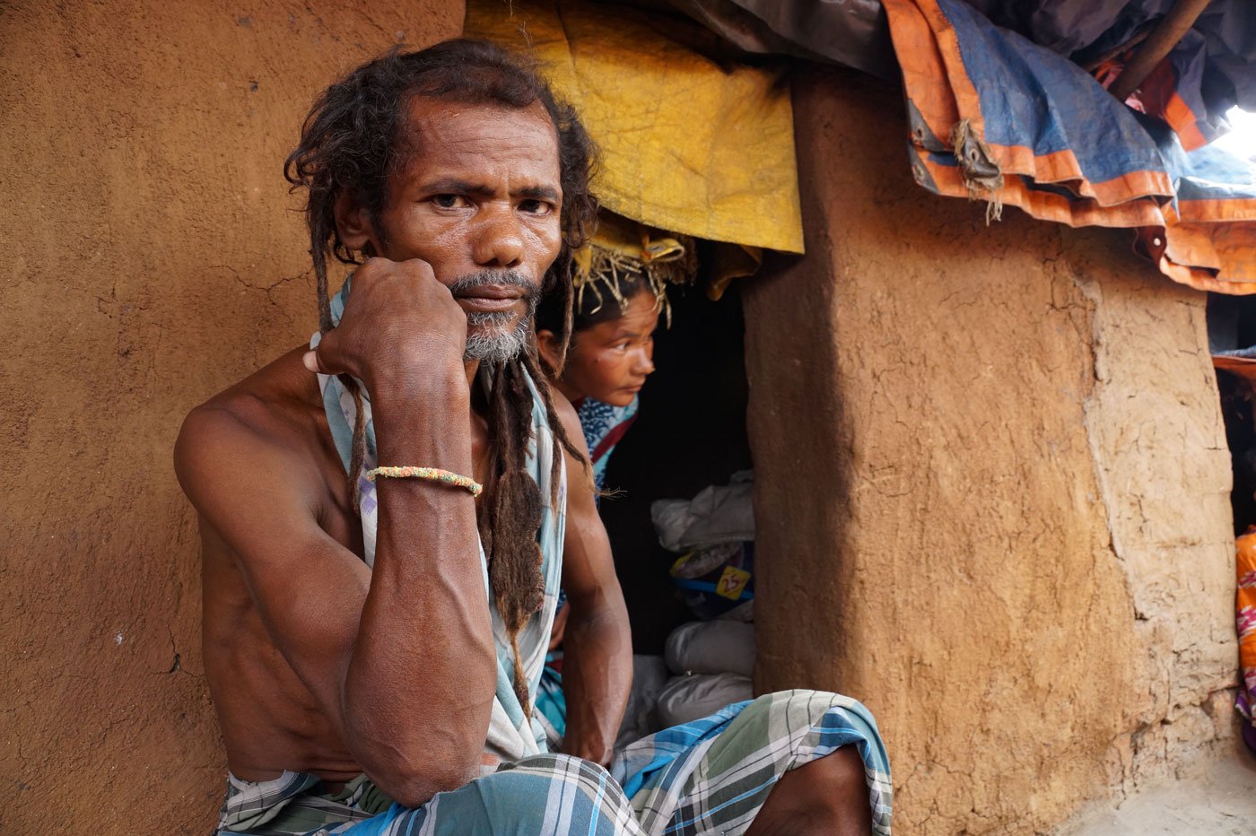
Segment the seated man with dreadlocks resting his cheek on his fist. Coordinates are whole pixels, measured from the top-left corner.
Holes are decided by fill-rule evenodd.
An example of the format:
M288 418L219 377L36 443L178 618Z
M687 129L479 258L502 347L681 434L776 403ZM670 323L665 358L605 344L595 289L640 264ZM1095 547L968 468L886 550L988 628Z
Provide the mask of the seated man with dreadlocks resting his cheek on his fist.
M543 290L570 310L590 164L575 114L484 43L389 53L310 112L286 174L319 333L195 409L175 451L220 833L889 832L884 748L845 697L769 694L610 751L628 621L530 328ZM328 252L357 265L334 297ZM560 582L558 753L533 712Z

